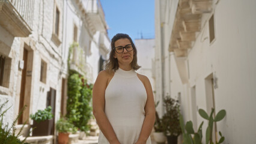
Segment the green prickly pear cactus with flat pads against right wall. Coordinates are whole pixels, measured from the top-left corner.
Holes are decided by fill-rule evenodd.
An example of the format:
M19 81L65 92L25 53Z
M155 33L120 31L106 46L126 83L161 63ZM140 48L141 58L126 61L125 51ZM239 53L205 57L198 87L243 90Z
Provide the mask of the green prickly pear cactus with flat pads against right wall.
M215 111L215 109L212 108L212 112L210 113L210 115L207 115L206 111L204 111L203 109L198 110L200 116L202 118L208 120L208 126L206 128L206 143L207 144L208 143L213 144L213 140L212 140L213 122L221 121L226 115L225 110L220 110L217 113L217 115L215 116L215 118L213 118L213 112L214 111ZM201 144L202 143L203 122L201 122L197 133L194 131L192 121L186 122L186 125L184 126L184 121L183 121L183 116L182 115L180 115L180 125L181 125L181 130L182 130L182 133L183 133L183 141L184 141L185 144ZM192 139L192 135L194 135L194 139ZM225 140L225 137L222 136L221 131L219 131L219 136L221 136L221 138L216 142L216 144L222 143Z

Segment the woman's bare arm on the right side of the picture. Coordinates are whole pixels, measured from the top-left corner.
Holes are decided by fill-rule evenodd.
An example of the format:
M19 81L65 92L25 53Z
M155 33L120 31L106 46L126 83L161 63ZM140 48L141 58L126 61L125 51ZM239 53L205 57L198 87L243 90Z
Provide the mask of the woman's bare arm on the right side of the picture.
M141 133L139 134L139 139L136 144L146 143L148 137L154 126L154 121L156 119L156 110L154 107L154 96L151 88L150 81L146 76L138 74L139 79L144 84L147 91L147 102L145 104L145 119L141 128Z

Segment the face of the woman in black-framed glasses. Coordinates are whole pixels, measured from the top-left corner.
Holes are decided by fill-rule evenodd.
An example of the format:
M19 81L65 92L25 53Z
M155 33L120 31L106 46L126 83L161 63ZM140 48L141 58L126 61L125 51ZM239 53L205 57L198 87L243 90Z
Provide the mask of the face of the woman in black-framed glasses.
M123 52L117 53L118 49L121 50L122 47L126 47ZM130 51L129 51L130 50ZM118 51L120 52L120 51ZM121 38L115 41L115 54L114 58L117 58L118 65L130 65L133 60L134 50L132 49L132 43L128 38Z

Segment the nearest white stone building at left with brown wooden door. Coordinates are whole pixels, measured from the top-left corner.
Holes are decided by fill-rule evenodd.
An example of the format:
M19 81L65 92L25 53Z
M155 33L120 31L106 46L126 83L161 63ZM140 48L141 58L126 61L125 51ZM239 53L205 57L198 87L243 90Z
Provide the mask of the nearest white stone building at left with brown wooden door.
M52 106L58 119L62 90L62 10L59 1L0 1L1 77L0 100L12 105L4 122L32 124L29 115ZM28 131L26 131L28 132ZM52 135L55 131L52 131Z

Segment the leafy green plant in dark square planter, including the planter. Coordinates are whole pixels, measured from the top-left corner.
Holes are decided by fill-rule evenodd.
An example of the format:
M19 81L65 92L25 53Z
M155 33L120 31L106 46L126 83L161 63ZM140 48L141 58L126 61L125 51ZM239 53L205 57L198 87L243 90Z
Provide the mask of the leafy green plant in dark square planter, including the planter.
M48 136L53 134L52 107L48 106L44 110L38 110L34 115L30 115L33 120L32 136Z

